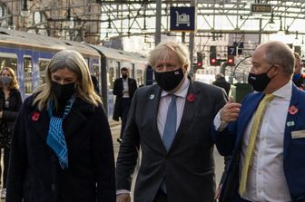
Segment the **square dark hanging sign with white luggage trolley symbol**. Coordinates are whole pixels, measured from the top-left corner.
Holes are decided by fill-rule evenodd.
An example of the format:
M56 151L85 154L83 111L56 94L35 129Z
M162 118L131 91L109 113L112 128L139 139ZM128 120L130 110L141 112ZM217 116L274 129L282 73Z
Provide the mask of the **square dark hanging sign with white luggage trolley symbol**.
M195 7L171 7L171 31L195 31Z

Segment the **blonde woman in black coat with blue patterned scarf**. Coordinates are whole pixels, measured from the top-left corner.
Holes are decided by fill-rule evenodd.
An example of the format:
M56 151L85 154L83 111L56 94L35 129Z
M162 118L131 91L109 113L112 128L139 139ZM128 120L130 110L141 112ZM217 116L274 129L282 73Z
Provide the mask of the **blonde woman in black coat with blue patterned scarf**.
M15 122L6 202L114 202L113 141L84 57L54 54Z

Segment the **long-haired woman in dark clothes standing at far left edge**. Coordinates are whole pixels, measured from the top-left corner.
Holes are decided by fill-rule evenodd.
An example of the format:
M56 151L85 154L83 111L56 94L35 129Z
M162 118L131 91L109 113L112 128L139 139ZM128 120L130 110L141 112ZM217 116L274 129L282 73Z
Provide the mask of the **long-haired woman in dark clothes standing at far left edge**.
M18 90L18 82L15 72L10 67L4 67L0 71L0 145L4 150L3 163L3 187L1 190L1 199L6 196L6 177L9 163L10 142L12 138L12 130L14 127L17 113L22 105L22 98ZM0 158L1 150L0 150ZM0 173L2 169L0 167Z

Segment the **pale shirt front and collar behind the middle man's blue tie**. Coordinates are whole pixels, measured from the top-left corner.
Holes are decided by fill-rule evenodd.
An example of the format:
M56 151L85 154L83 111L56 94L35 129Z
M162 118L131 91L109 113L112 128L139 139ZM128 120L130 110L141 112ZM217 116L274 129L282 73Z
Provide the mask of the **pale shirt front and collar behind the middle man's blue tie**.
M185 98L186 98L186 94L189 90L189 86L190 86L190 80L186 78L184 80L184 82L182 83L182 86L180 87L180 89L173 93L174 95L177 96L177 98L176 98L176 106L177 106L176 131L178 130L180 122L182 120L182 113L183 113L183 109L184 109ZM168 110L168 107L170 106L171 101L172 101L172 99L171 99L171 96L169 96L169 93L167 91L162 90L161 98L160 98L160 102L159 102L158 117L157 117L158 130L159 130L161 139L163 137L163 131L165 128L167 110Z

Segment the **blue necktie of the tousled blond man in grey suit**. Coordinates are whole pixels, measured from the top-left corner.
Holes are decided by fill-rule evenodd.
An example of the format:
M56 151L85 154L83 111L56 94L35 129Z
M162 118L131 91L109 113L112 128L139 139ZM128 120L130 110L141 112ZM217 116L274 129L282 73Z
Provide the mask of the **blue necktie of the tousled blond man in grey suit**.
M176 126L177 126L176 96L174 94L171 94L170 96L172 97L172 101L167 110L165 127L162 137L163 144L167 150L169 150L172 145L172 140L176 135Z

